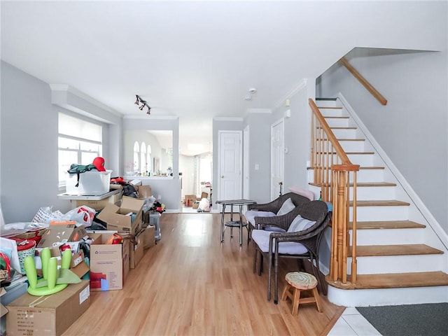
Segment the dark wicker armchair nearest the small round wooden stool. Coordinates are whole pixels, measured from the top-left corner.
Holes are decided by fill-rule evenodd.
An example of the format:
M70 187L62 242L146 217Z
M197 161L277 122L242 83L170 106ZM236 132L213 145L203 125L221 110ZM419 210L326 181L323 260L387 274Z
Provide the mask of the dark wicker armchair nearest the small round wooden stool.
M286 215L278 216L281 217L281 221L279 220L277 223L269 221L272 218L262 218L262 221L257 221L260 229L276 227L287 230L286 232L272 232L267 230L253 230L252 232L253 244L255 246L253 272L256 269L258 255L260 255L258 275L262 271L263 255L268 255L269 258L267 300L271 300L272 264L274 264L274 303L277 304L279 300L279 257L302 260L309 259L314 276L316 276L316 279L321 279L318 248L323 231L331 221L331 216L332 213L328 211L328 206L325 202L309 201L296 207L296 209ZM316 260L316 269L314 267L314 260ZM324 287L321 286L321 288Z

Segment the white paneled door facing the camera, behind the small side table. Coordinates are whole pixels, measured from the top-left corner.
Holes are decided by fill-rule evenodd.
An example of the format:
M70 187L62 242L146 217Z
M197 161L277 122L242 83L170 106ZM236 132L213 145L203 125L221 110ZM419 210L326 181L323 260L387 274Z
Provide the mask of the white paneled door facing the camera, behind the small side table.
M218 200L241 199L241 131L219 131Z

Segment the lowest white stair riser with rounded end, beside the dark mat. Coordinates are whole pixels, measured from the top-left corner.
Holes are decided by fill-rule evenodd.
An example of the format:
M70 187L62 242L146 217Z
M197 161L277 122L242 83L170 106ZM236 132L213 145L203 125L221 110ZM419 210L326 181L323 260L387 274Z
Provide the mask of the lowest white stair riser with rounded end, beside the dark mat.
M448 286L345 290L328 286L328 301L344 307L448 302Z

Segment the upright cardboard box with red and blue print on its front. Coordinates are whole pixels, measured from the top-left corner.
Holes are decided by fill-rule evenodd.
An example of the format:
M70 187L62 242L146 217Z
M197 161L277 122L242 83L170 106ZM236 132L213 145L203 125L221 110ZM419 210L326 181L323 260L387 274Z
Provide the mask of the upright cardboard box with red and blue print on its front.
M123 288L123 244L104 244L113 233L94 233L90 244L90 290Z

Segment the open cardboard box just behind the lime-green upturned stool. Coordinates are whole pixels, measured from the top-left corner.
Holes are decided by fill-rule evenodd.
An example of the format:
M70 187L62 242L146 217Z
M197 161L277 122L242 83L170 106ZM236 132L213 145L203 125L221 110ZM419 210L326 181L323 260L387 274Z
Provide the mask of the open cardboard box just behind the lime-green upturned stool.
M52 221L37 247L52 247L55 242L79 241L86 235L85 227L83 225L76 227L75 221Z

